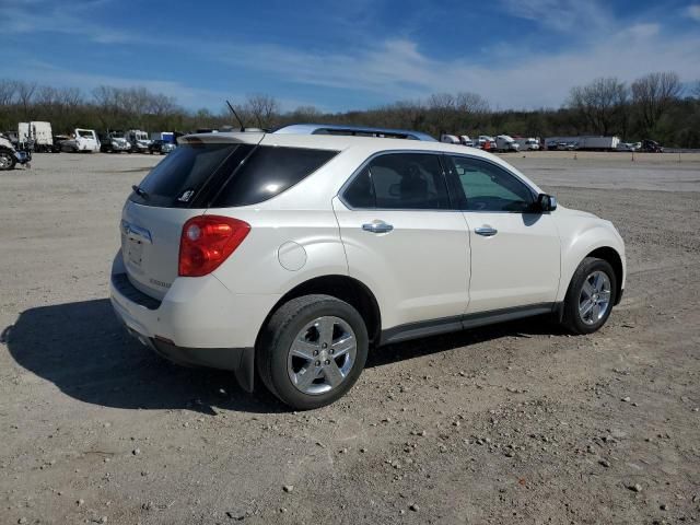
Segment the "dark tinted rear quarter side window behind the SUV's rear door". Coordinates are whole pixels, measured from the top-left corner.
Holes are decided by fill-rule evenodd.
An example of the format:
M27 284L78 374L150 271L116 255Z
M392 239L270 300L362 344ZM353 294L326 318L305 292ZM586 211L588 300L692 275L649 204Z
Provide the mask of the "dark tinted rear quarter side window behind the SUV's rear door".
M338 154L337 151L261 145L235 170L211 203L257 205L285 191Z

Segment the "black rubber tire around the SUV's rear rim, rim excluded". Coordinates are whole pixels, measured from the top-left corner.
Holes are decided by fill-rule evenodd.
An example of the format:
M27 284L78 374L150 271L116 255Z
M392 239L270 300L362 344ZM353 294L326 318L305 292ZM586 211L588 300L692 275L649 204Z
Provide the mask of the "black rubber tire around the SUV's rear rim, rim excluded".
M294 386L288 373L288 354L296 335L322 316L339 317L354 331L357 353L352 368L338 386L323 394L306 394ZM369 337L362 316L348 303L330 295L304 295L283 304L265 326L256 349L257 371L265 386L296 410L330 405L358 381L368 358Z

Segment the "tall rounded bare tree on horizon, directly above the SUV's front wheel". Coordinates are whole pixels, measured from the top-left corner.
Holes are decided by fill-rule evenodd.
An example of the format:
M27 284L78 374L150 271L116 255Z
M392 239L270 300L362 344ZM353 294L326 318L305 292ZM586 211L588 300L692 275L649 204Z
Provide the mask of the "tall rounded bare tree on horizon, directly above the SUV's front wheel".
M600 78L587 85L573 88L569 105L588 124L593 131L609 135L625 127L629 90L618 79Z

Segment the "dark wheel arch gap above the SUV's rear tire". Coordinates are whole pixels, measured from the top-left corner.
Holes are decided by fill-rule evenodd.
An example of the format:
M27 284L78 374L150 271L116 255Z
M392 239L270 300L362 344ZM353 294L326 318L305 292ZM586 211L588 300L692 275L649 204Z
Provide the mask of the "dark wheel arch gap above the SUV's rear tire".
M382 315L378 302L372 291L363 282L353 279L352 277L328 275L308 279L296 284L289 292L282 295L270 310L265 322L260 326L260 330L258 331L256 339L256 347L265 326L267 326L275 312L292 299L311 294L330 295L350 304L364 319L368 327L368 334L370 336L370 343L376 343L380 340L380 334L382 331Z

